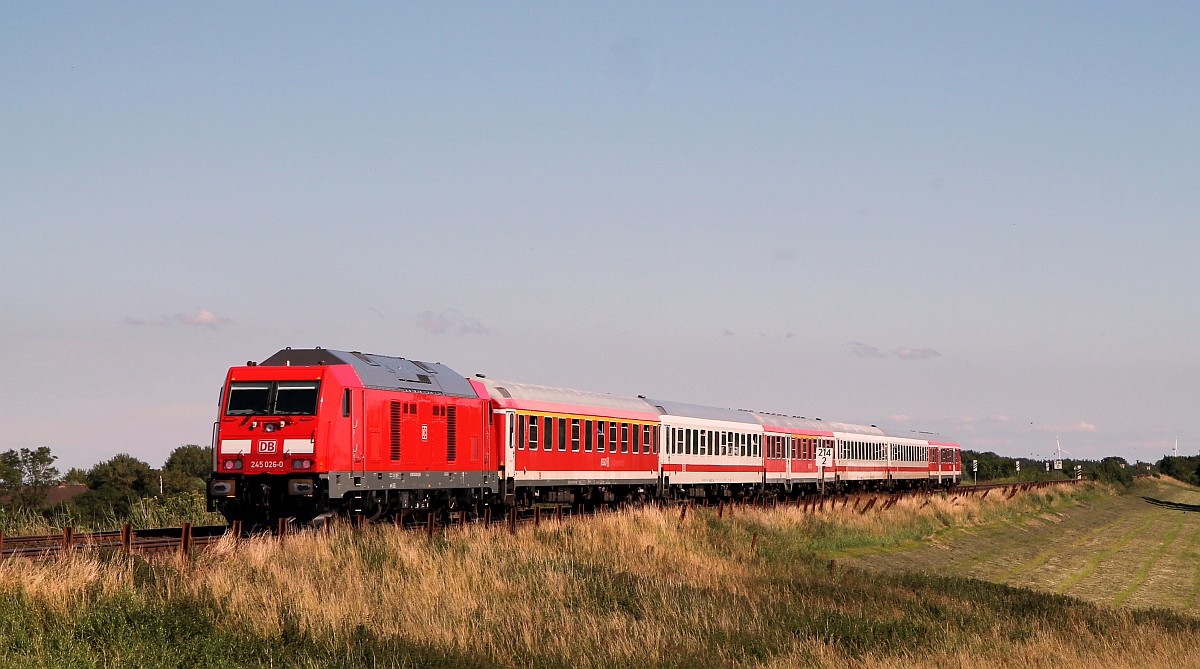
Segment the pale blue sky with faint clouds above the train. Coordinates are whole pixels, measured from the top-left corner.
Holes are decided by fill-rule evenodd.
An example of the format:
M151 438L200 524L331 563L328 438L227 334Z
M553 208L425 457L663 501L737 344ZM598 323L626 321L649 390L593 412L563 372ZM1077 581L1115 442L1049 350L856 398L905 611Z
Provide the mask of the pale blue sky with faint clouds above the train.
M1200 452L1190 2L0 5L0 450L283 346Z

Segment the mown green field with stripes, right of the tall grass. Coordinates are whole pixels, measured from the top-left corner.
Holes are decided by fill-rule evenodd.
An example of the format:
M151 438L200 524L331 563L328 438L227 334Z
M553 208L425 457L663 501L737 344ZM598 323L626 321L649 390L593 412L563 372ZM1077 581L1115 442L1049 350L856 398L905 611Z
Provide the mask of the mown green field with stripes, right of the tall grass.
M1132 494L1073 500L1043 513L950 529L931 542L871 548L852 562L869 569L978 578L1112 607L1195 613L1200 513L1145 498L1200 505L1200 490L1147 478Z

